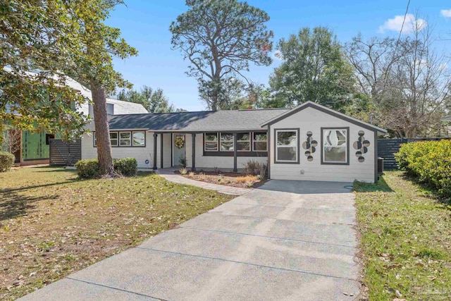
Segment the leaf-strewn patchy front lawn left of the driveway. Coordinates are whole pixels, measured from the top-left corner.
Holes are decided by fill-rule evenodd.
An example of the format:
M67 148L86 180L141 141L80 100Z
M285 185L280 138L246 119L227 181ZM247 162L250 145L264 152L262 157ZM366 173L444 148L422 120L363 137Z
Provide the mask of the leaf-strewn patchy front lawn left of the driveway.
M0 299L13 300L233 198L154 174L0 173Z

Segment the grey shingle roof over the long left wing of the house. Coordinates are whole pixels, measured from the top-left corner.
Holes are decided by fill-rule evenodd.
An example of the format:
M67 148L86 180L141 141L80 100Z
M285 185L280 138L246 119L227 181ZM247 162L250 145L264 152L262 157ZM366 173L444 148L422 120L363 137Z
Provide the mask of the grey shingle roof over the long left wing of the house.
M289 109L114 115L109 118L109 127L111 130L136 128L187 132L259 130L263 121L274 118L286 111L289 111ZM93 125L89 128L94 130Z

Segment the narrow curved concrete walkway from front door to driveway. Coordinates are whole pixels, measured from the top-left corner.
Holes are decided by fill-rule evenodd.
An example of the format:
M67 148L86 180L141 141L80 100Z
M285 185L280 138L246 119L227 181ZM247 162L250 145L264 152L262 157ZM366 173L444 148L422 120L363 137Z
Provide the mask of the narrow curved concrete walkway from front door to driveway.
M161 168L156 171L160 176L165 178L168 181L179 183L179 184L186 184L186 185L192 185L197 186L204 189L209 190L216 190L221 193L226 193L228 195L244 195L245 193L251 191L251 189L247 188L239 188L239 187L232 187L232 186L226 186L226 185L218 185L213 183L206 183L198 180L191 180L189 178L185 178L183 176L180 176L178 174L175 174L174 171L177 171L176 168Z

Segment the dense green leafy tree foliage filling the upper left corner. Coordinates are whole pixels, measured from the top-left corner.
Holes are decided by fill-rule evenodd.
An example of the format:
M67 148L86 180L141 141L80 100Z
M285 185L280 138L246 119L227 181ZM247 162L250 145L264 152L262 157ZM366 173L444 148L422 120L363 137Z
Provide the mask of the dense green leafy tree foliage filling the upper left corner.
M87 99L66 86L61 63L78 47L73 6L62 0L10 0L0 4L0 131L77 135L85 118L73 110ZM1 140L1 137L0 137Z

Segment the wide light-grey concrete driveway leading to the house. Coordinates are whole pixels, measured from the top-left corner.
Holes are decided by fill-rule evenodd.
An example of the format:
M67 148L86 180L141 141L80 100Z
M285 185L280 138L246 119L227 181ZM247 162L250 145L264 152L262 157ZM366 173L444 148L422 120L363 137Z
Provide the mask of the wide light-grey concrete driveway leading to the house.
M345 185L271 180L23 300L354 300Z

